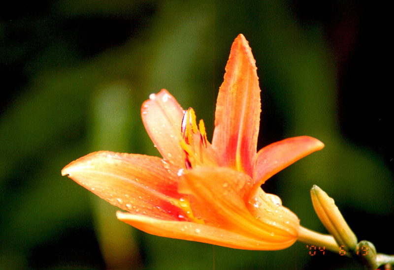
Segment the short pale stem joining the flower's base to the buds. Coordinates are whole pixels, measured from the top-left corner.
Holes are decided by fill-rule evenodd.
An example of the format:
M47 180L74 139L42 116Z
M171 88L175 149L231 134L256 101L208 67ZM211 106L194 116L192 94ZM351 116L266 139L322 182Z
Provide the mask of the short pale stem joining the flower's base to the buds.
M349 252L345 252L345 250L341 250L339 248L338 244L332 236L319 234L302 226L300 226L299 228L297 240L310 245L321 247L324 246L326 247L326 250L335 252L337 254L343 254L348 257L350 256Z

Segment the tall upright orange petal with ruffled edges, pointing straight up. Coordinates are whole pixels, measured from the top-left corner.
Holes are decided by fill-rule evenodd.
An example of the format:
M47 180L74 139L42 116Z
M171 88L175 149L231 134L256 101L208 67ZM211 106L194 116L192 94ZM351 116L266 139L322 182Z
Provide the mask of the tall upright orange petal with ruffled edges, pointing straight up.
M242 34L231 46L219 89L212 146L228 166L253 176L260 124L260 87L252 51Z

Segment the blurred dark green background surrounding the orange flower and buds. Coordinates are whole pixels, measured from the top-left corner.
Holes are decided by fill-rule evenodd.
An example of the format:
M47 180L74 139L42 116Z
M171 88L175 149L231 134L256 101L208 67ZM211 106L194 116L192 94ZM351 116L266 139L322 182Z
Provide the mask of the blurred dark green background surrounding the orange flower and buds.
M165 88L212 138L234 38L262 88L258 149L291 136L326 144L268 180L325 233L319 185L359 240L393 254L390 9L380 1L7 2L0 10L0 269L357 269L302 243L244 251L151 236L61 169L96 150L159 155L140 106ZM390 84L389 84L390 83Z

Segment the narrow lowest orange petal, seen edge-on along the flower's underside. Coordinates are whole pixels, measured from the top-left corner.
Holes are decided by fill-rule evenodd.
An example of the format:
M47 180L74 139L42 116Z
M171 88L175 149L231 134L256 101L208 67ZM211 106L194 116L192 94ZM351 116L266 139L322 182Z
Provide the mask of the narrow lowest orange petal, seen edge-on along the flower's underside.
M146 216L133 215L118 211L119 220L149 234L210 243L231 248L254 249L254 250L278 250L290 246L289 243L273 243L262 239L254 239L244 235L231 232L222 228L212 227L204 224L168 221Z

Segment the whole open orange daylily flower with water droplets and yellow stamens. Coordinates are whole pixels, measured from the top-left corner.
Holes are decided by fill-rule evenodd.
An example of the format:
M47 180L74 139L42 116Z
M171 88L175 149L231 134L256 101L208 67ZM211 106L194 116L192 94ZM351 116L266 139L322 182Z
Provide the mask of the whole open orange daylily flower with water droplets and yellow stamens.
M99 151L63 170L77 183L127 212L118 219L153 235L241 249L292 245L297 216L261 185L324 147L302 136L257 151L260 87L245 37L232 44L220 87L212 144L192 108L166 90L142 105L145 128L163 158Z

